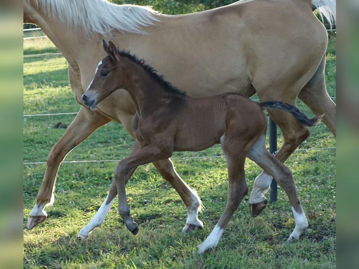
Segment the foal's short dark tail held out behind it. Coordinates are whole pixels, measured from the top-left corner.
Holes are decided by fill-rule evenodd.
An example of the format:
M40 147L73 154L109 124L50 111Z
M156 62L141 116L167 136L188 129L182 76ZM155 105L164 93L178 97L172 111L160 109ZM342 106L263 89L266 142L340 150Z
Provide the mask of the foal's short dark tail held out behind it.
M294 107L294 105L290 105L283 102L271 101L271 102L263 102L260 103L262 109L280 109L286 112L291 113L300 123L304 126L316 126L322 119L323 115L320 117L314 117L309 119L306 114L301 112L298 108Z

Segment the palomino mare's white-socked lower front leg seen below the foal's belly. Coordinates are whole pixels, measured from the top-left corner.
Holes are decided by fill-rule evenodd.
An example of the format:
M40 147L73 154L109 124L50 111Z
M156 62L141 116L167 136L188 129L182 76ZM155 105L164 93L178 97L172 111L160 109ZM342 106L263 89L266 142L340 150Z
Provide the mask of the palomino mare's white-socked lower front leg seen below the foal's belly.
M153 163L159 173L167 180L182 198L187 207L187 221L182 232L190 232L195 228L203 228L203 223L198 219L198 212L202 210L202 202L197 192L192 190L177 174L171 159Z

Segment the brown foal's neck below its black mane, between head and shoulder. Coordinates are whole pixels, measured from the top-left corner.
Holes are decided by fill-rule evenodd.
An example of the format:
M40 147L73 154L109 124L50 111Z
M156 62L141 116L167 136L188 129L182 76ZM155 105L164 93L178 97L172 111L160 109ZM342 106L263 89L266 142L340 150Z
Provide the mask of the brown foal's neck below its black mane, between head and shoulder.
M121 60L122 61L122 60ZM156 81L143 66L126 58L126 75L123 88L129 92L138 114L156 110L168 100L178 98L177 94L166 90L165 85Z

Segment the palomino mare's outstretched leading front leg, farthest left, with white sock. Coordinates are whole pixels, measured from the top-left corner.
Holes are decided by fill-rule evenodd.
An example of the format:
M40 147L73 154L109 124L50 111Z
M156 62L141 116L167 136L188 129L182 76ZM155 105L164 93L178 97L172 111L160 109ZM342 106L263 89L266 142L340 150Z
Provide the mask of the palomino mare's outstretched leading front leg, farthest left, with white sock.
M31 229L38 223L43 222L47 213L44 208L54 202L56 174L65 156L82 141L89 137L98 127L111 120L93 112L88 108L81 107L79 113L71 122L64 135L53 146L47 157L47 166L41 188L37 195L36 204L30 212L27 228Z

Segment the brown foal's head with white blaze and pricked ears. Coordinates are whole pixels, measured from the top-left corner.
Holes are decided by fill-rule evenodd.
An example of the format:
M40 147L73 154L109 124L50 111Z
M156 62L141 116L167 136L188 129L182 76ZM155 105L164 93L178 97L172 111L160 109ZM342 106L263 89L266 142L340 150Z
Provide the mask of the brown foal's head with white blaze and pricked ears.
M123 86L125 67L119 61L120 55L115 44L109 41L107 45L103 40L103 49L108 56L98 63L95 76L82 95L84 105L91 109L94 109L100 101Z

